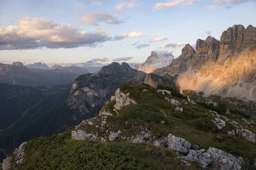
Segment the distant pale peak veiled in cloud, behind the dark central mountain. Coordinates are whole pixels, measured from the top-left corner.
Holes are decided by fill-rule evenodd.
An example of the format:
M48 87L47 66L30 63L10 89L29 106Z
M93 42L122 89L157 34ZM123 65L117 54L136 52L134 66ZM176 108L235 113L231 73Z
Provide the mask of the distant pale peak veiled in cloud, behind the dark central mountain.
M138 71L144 71L145 73L152 73L154 70L171 64L174 57L171 53L164 53L151 51L151 55L147 58L143 64L136 64L133 66Z

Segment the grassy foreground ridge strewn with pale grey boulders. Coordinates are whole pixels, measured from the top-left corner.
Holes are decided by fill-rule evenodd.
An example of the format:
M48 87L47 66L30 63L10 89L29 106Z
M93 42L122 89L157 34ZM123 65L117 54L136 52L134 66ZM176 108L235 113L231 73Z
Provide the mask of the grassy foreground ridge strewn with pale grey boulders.
M10 169L253 169L256 127L169 86L120 86L98 117L23 143ZM175 153L176 152L176 153Z

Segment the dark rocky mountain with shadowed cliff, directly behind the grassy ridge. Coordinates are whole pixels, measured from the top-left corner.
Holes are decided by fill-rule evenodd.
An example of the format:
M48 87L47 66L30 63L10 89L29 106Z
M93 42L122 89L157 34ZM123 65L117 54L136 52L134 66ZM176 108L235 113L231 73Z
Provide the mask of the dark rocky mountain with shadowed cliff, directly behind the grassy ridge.
M94 117L120 85L127 82L140 83L145 75L131 69L125 62L121 65L113 62L103 66L97 73L77 77L72 84L67 106L85 117Z

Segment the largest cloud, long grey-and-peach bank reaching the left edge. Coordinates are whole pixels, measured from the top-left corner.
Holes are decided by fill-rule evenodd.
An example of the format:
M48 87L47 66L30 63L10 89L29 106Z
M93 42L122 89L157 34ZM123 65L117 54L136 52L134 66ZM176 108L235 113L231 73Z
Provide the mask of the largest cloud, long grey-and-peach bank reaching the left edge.
M44 18L21 18L14 25L0 25L0 50L74 48L94 46L109 40L97 32L79 32L71 25L61 25Z

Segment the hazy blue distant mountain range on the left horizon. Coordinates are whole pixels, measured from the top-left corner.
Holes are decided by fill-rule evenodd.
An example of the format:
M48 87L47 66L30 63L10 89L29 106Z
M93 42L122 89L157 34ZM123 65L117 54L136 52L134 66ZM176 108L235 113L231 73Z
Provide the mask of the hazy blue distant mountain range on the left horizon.
M55 69L28 69L22 63L0 63L0 83L22 86L53 86L72 82L78 75L88 73L76 66L64 66Z

